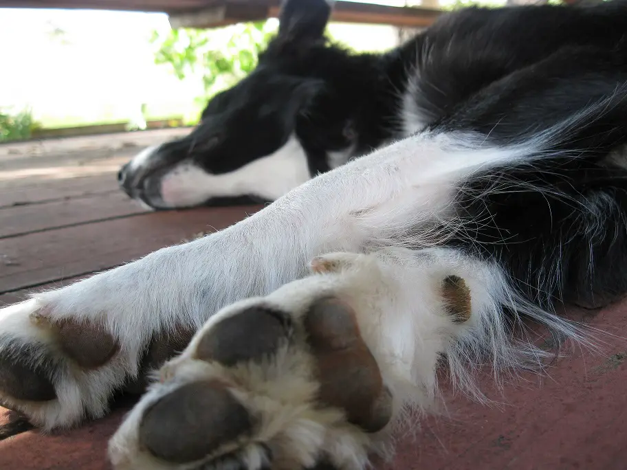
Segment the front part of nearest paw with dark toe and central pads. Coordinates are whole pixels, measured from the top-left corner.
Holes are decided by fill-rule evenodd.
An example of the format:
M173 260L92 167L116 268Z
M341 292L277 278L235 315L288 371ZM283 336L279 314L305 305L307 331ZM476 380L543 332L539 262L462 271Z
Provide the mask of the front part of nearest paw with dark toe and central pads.
M111 440L116 467L301 470L340 445L359 468L392 396L347 302L301 307L260 301L203 328Z

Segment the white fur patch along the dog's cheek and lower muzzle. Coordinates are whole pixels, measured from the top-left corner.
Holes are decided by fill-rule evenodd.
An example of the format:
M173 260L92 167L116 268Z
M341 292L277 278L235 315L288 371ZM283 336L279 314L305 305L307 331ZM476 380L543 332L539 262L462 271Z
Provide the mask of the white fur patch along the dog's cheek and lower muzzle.
M212 197L244 194L274 201L310 177L305 150L293 136L272 155L221 175L183 161L162 177L161 198L165 207L197 205Z

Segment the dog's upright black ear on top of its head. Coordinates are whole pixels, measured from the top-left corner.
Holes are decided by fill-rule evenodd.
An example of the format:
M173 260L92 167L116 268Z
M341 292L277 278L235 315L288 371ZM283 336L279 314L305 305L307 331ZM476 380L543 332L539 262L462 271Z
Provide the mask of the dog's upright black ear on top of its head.
M285 0L278 35L292 41L317 41L325 32L335 0Z

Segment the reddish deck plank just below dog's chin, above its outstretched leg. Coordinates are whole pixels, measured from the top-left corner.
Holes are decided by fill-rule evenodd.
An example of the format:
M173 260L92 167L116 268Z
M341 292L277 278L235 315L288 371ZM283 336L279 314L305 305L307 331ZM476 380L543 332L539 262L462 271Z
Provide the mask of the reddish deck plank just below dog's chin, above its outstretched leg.
M0 240L0 293L91 273L220 230L261 206L151 212Z

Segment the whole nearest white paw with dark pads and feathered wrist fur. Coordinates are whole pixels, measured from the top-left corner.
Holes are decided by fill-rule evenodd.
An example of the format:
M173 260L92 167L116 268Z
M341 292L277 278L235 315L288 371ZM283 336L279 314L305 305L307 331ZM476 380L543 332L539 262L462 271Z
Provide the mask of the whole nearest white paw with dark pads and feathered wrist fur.
M316 274L212 317L110 443L116 469L366 468L448 361L472 392L478 351L517 361L498 267L452 249L336 253ZM489 353L487 354L489 356Z

